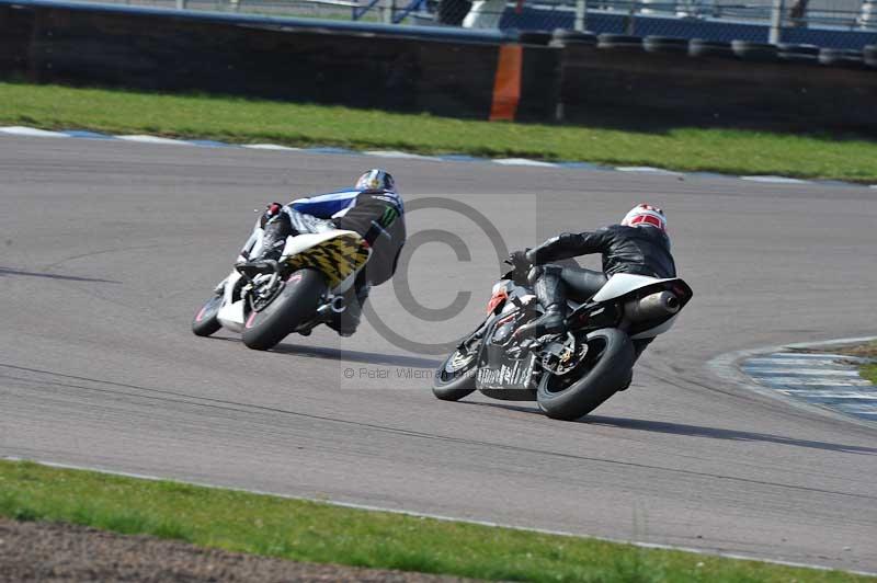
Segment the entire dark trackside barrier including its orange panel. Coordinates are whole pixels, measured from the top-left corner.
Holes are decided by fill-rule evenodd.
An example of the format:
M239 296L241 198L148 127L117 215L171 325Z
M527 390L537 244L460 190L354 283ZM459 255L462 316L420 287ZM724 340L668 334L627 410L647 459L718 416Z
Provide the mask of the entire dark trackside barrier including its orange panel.
M641 130L877 135L877 70L545 35L0 0L0 77ZM572 39L569 41L570 43Z

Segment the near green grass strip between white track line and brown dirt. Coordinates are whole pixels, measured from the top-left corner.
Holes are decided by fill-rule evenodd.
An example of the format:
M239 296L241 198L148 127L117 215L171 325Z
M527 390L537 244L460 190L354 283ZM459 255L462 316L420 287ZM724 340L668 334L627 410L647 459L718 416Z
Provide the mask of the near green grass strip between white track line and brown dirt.
M148 534L299 561L480 579L857 582L839 571L366 512L319 502L0 461L0 515Z

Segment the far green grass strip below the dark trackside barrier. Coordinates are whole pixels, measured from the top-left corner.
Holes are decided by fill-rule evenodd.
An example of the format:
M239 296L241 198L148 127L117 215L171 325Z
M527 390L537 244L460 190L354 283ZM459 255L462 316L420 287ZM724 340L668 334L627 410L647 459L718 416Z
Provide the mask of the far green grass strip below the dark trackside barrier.
M877 141L724 129L636 133L23 83L0 83L0 124L877 182Z

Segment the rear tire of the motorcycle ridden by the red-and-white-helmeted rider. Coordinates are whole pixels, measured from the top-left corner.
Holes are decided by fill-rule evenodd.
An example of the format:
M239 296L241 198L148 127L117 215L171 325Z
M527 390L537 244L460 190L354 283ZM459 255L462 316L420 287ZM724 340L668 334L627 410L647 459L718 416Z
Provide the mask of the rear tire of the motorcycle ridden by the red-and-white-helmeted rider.
M600 407L622 389L630 378L634 367L634 344L617 328L603 328L588 334L589 353L597 352L597 362L569 387L555 390L557 377L544 373L536 389L536 401L546 415L562 421L574 421ZM585 355L585 359L588 355Z

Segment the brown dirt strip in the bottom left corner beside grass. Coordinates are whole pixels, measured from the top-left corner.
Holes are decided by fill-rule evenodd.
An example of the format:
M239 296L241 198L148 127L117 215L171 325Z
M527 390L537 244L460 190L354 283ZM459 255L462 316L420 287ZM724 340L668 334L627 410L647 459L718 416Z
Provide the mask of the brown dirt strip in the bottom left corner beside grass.
M432 583L467 580L299 563L69 524L21 523L0 517L0 582L25 581Z

